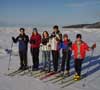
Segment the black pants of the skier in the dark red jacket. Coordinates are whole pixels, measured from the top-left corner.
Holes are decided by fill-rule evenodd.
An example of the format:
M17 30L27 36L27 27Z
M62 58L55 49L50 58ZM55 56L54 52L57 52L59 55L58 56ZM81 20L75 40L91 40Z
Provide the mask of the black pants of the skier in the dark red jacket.
M39 48L31 48L33 69L39 68Z

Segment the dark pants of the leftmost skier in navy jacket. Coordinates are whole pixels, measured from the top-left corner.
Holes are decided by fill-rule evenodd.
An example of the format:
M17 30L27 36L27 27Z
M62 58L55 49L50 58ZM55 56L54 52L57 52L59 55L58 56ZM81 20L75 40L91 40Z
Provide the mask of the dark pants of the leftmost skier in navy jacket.
M20 66L27 67L27 51L19 51Z

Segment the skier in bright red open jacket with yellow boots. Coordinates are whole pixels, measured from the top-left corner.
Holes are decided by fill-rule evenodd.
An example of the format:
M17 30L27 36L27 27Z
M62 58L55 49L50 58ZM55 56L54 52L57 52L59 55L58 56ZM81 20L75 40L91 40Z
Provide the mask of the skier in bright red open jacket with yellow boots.
M76 72L74 80L81 79L81 67L82 67L82 62L86 56L86 51L90 51L95 47L96 44L93 44L92 47L89 47L87 43L82 40L81 34L76 35L76 41L72 45L72 50L74 52L75 72Z

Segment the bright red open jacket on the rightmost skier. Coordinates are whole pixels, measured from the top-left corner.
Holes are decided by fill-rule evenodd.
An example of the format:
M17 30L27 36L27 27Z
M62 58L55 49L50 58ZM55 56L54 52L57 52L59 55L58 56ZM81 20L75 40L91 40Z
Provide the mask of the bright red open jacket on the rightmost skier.
M77 46L76 42L72 45L72 50L74 52L74 59L78 59L78 46ZM81 56L81 59L85 58L86 51L89 51L89 46L87 45L87 43L82 41L82 43L80 45L80 56Z

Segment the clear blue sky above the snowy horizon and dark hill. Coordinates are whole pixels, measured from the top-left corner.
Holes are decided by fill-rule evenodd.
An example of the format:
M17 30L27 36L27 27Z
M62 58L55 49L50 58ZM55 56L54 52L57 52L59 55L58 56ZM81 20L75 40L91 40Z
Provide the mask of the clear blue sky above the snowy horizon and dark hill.
M100 21L100 0L0 0L0 24L71 25Z

